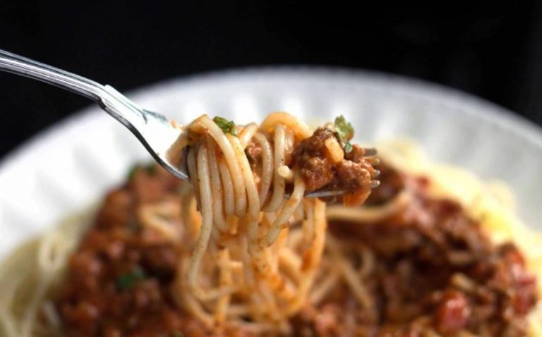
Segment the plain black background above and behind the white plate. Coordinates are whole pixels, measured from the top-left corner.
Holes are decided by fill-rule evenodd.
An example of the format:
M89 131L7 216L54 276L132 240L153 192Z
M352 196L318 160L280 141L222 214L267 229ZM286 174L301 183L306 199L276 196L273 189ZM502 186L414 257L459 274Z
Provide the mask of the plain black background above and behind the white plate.
M110 2L2 1L0 48L120 91L231 67L366 68L471 92L542 124L538 1ZM0 157L90 104L6 73L0 88Z

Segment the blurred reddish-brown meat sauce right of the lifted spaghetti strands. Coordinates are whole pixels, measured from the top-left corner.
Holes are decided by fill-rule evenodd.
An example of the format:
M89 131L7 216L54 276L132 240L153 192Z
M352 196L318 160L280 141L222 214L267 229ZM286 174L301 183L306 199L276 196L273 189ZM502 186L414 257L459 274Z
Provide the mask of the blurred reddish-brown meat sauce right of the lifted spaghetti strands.
M369 202L381 204L399 188L411 190L414 200L383 221L329 225L345 246L364 245L374 255L363 284L376 308L352 302L342 284L321 305L306 307L294 319L300 331L309 331L299 336L414 337L430 331L526 336L526 314L537 300L536 277L517 247L493 245L459 204L428 197L428 180L385 165L381 179L385 192L377 188Z

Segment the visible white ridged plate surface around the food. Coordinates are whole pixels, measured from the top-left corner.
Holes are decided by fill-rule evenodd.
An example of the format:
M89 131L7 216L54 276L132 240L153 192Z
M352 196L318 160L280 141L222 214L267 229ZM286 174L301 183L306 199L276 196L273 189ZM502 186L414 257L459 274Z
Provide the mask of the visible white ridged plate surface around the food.
M504 109L416 80L323 68L264 68L171 80L130 97L190 121L200 114L261 121L289 111L306 121L339 114L357 137L413 137L438 161L507 181L519 213L542 229L542 133ZM0 259L30 235L98 200L135 161L149 160L121 124L93 107L37 135L0 163Z

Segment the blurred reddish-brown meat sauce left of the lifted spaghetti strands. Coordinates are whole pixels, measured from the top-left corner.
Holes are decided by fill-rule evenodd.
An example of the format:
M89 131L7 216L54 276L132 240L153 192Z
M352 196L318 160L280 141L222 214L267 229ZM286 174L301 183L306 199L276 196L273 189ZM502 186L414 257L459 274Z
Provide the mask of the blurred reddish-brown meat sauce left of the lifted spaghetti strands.
M56 300L67 336L207 336L171 299L177 248L135 219L138 205L174 197L178 184L161 169L139 168L107 195Z

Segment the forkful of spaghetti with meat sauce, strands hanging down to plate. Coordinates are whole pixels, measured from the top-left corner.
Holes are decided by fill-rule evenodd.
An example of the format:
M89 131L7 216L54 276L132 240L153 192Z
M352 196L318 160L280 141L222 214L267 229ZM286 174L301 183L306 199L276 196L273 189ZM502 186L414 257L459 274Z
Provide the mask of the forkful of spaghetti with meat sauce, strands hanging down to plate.
M360 204L376 175L373 159L357 145L345 156L351 132L337 135L344 118L314 134L285 113L270 114L259 127L225 129L220 122L201 116L180 140L188 147L202 223L193 255L180 262L176 299L209 325L223 323L236 307L242 314L229 312L230 324L250 318L287 332L287 318L306 302L325 243L324 204L303 195L348 189L344 203ZM293 185L288 199L287 185ZM296 222L303 240L292 244Z

